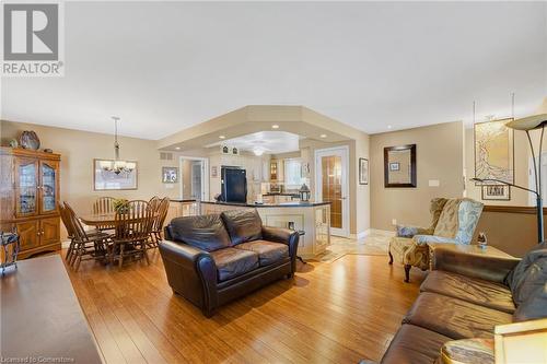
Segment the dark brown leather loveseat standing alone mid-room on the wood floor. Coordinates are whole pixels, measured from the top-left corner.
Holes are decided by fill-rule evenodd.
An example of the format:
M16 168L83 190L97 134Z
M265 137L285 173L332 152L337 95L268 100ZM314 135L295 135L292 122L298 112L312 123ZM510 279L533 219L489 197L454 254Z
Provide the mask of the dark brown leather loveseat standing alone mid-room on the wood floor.
M173 291L211 317L214 309L294 275L298 232L263 226L253 210L173 219L160 243Z

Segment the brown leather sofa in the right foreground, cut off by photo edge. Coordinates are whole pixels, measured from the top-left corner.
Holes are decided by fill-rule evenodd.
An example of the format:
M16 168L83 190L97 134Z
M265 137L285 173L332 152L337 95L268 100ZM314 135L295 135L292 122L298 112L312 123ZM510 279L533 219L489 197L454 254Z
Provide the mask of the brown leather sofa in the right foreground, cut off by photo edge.
M492 339L497 325L547 317L546 244L522 260L435 248L433 270L382 363L433 363L446 341Z

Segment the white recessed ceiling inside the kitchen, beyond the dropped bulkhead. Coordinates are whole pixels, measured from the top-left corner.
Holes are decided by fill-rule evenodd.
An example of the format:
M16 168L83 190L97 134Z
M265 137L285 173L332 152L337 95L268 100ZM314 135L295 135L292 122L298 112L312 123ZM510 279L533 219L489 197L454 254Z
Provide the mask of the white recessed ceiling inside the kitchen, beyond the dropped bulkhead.
M235 146L241 151L253 152L255 149L266 154L280 154L299 151L300 136L288 131L259 131L251 134L222 140L220 142L206 145Z

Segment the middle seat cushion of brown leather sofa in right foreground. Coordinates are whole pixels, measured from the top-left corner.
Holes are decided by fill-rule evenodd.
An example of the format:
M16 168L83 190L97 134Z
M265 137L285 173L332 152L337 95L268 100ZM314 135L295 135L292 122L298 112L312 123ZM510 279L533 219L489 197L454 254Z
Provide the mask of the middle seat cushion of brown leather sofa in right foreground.
M511 321L508 313L430 292L422 292L403 319L452 339L489 339L496 325Z

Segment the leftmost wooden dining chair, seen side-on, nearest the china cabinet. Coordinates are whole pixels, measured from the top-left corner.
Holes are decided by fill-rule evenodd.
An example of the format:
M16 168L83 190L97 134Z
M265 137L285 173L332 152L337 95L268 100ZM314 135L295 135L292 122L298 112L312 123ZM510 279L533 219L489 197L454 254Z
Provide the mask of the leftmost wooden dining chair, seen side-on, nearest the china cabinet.
M88 233L74 210L67 202L65 202L65 213L73 234L73 247L69 265L78 271L82 260L104 259L109 235L98 231Z

